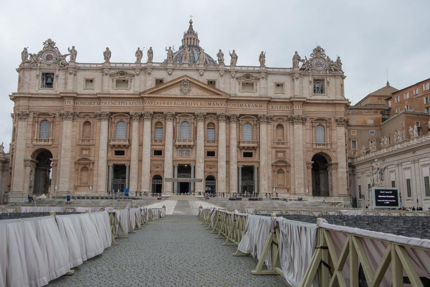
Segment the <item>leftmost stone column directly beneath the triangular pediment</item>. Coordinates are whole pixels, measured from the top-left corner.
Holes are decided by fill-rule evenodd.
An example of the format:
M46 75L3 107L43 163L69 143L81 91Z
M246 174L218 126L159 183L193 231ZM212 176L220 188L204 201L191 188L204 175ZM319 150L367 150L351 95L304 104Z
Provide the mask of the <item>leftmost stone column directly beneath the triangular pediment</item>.
M151 192L151 120L152 111L144 111L141 192Z

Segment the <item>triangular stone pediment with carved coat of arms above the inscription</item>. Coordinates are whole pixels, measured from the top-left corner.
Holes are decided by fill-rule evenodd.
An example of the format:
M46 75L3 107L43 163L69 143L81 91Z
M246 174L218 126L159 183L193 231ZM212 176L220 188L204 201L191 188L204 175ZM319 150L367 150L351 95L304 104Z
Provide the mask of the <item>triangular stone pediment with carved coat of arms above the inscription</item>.
M166 96L221 96L228 97L228 93L209 86L187 75L170 80L160 86L147 89L144 95L166 95Z

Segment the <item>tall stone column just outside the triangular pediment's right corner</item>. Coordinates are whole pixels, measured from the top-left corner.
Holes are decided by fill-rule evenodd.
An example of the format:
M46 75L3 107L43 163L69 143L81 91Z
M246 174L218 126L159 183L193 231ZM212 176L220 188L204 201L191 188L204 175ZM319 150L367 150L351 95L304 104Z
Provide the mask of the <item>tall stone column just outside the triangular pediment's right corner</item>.
M229 114L230 118L230 162L229 162L229 191L237 193L237 119L239 114Z

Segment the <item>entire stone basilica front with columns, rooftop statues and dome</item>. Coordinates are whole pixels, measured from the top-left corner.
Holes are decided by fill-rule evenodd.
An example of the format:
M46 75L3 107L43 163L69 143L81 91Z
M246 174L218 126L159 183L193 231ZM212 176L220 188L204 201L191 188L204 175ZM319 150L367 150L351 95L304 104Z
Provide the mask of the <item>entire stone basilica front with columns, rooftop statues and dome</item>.
M293 68L266 67L263 52L259 66L239 66L232 50L228 65L221 50L204 52L192 21L166 51L162 63L152 49L110 62L108 48L103 63L79 63L74 46L61 54L51 39L24 49L5 198L126 187L349 197L340 58L317 46L296 52Z

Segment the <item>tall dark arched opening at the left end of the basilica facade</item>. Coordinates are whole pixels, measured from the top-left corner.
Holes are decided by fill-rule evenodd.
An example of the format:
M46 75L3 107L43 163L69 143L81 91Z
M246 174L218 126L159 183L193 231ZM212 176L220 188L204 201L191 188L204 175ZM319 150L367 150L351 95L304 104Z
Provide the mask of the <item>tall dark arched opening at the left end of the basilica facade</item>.
M32 158L37 160L34 169L30 170L29 187L33 194L47 194L51 186L49 174L51 173L52 153L46 148L38 149L33 153Z

